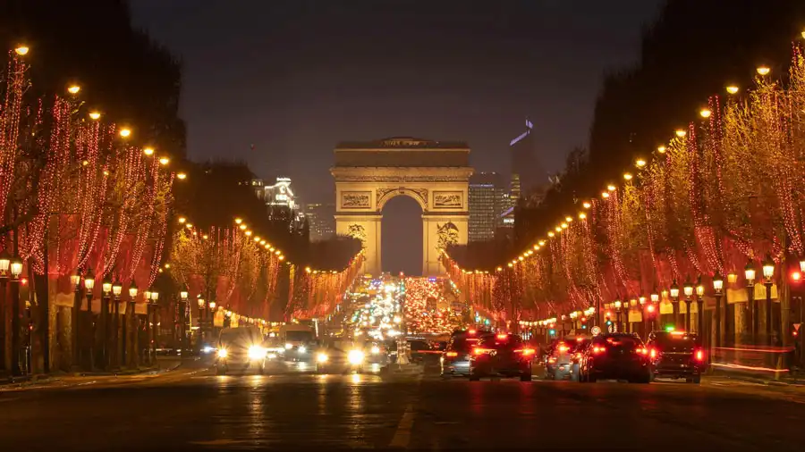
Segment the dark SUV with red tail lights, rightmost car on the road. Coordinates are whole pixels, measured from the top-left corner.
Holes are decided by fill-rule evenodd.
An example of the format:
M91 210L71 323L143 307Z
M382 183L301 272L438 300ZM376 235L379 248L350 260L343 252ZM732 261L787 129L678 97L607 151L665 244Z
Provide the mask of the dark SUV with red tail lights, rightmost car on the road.
M707 366L699 336L685 331L652 331L648 335L651 380L656 377L685 379L699 384Z

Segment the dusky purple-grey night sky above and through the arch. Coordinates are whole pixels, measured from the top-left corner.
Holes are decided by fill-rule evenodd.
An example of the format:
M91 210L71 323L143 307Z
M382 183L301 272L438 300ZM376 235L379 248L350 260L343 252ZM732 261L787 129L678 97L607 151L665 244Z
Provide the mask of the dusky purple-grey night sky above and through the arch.
M508 143L528 116L540 161L560 171L587 141L602 75L635 61L659 3L132 0L131 9L182 57L192 160L245 160L261 177L291 177L303 202L333 202L327 170L341 140L467 141L476 171L508 174ZM399 205L386 215L411 220L411 204Z

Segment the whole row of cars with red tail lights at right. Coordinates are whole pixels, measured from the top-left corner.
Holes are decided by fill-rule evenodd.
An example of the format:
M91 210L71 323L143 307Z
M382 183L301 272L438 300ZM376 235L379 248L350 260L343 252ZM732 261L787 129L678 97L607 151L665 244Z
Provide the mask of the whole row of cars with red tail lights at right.
M685 381L699 384L707 354L694 333L651 331L568 335L535 344L518 334L470 329L453 332L439 359L444 379L549 381Z

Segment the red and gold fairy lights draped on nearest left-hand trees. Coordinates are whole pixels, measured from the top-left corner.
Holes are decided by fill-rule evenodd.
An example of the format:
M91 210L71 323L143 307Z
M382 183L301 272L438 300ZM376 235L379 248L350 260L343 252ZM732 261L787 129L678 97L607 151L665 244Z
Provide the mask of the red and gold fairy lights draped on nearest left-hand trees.
M131 127L107 123L82 87L35 96L26 62L9 51L0 108L0 211L30 272L76 272L153 284L171 216L167 155L135 145ZM4 234L4 248L8 248ZM99 289L98 289L99 290Z

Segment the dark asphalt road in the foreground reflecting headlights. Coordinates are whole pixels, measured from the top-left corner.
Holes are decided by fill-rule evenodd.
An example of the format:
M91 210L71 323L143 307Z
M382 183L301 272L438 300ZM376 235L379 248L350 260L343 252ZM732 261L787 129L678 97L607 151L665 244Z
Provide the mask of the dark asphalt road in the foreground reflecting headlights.
M216 376L202 364L0 389L4 450L801 450L805 388Z

